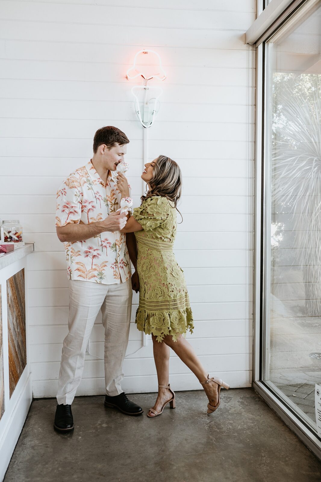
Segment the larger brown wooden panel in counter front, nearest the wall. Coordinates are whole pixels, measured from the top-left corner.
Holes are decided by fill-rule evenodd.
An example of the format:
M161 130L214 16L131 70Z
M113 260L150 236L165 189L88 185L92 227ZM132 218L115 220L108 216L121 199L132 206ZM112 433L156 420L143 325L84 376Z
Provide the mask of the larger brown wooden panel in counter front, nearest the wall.
M25 270L7 280L10 397L27 364Z

